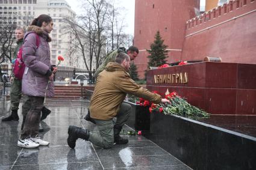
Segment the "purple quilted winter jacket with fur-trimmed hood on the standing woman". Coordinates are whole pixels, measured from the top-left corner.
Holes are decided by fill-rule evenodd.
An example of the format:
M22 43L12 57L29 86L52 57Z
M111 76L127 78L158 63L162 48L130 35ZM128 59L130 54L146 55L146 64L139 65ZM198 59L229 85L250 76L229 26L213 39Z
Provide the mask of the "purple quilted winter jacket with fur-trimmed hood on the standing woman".
M39 47L36 46L36 35L39 35ZM51 55L48 42L51 41L48 33L39 26L29 26L24 35L22 58L26 65L22 77L22 92L27 96L53 97L54 83L49 82L47 71L51 68Z

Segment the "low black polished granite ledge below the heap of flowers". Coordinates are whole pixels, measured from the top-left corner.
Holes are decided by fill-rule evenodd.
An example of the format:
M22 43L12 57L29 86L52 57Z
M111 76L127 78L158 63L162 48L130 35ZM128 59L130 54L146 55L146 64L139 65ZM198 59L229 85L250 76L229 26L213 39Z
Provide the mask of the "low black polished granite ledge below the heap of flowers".
M254 136L159 113L143 135L193 169L256 169Z

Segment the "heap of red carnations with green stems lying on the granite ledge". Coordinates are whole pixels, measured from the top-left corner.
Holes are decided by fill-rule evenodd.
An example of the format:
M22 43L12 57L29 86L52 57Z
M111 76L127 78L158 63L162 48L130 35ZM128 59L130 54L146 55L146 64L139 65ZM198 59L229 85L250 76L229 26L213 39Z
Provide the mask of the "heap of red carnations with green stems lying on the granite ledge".
M195 106L190 105L184 98L178 96L176 92L166 93L166 99L170 100L169 103L160 103L158 105L152 103L149 108L149 112L158 111L163 114L170 115L181 115L181 116L196 116L196 117L209 117L209 114L202 111Z

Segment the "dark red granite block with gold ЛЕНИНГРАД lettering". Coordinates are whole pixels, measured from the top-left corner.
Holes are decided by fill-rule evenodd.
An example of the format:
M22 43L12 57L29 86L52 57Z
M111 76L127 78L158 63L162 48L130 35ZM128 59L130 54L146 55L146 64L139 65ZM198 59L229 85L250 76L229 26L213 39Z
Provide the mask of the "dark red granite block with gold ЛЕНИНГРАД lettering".
M210 114L256 115L256 64L198 62L148 70L147 88L176 91Z

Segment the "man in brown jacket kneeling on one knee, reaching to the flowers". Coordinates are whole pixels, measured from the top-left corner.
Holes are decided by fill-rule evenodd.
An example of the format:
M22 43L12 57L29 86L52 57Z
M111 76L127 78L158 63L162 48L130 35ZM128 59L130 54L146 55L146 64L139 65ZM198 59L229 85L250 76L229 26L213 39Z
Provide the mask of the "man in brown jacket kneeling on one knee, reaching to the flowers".
M162 99L160 95L140 87L131 79L128 73L130 62L130 56L119 53L115 61L109 62L105 70L99 73L89 106L90 117L95 120L99 133L69 126L67 144L70 148L75 148L78 138L102 148L111 148L114 143L127 144L128 139L119 135L131 112L131 106L128 103L122 103L127 93L154 103L169 103L169 100ZM116 122L113 121L114 117Z

